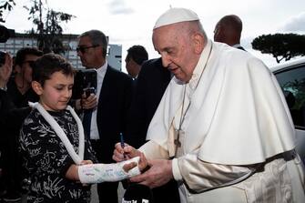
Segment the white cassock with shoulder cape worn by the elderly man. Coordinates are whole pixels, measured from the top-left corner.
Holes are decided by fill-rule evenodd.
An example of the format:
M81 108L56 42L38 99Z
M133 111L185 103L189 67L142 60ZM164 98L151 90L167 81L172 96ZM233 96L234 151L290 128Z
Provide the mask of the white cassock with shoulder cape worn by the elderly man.
M181 202L305 202L285 98L269 68L245 51L208 40L189 83L169 83L147 140L147 158L175 156Z

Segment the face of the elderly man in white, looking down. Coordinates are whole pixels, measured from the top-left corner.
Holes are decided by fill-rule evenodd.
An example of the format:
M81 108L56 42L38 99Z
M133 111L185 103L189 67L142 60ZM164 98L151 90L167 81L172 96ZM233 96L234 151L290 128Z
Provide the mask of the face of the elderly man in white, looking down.
M162 56L163 66L180 81L188 82L197 61L193 59L191 36L184 29L183 23L158 27L153 32L153 44Z

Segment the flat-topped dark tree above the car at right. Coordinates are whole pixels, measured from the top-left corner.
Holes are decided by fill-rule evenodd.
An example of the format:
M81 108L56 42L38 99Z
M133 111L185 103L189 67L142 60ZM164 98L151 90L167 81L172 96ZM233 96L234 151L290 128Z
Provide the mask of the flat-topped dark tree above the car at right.
M297 34L262 35L252 41L252 48L263 54L271 54L277 62L305 56L305 36Z

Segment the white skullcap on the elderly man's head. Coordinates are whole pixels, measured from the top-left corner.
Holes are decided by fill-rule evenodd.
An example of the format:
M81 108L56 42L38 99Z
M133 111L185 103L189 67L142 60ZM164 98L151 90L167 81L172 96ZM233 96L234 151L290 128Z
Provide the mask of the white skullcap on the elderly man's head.
M154 29L186 21L199 20L198 15L187 8L169 8L163 15L159 16Z

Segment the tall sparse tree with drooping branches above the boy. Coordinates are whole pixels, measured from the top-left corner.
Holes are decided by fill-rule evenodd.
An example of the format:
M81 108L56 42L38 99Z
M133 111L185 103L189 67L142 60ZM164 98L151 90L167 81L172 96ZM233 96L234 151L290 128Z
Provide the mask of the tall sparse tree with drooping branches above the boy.
M42 0L32 0L32 2L32 7L24 7L29 11L28 19L32 19L35 25L29 33L37 37L38 48L44 53L52 51L56 54L65 53L67 48L61 41L63 28L60 24L67 23L75 16L50 9L47 3L45 5L42 3Z

